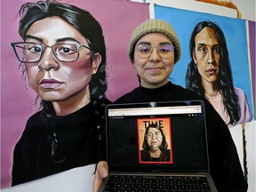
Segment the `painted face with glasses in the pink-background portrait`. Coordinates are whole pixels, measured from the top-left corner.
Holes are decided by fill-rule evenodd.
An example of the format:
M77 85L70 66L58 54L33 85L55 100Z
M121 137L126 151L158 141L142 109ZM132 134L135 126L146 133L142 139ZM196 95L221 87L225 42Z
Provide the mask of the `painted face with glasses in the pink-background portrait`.
M87 40L68 22L59 17L50 17L36 21L25 36L25 42L43 44L45 46L41 60L34 63L25 63L28 83L42 100L63 101L73 97L83 97L84 92L97 71L99 59L92 58ZM53 53L53 44L68 44L54 48L55 54L72 55L73 45L79 47L79 57L74 61L60 61ZM32 51L37 50L31 47ZM58 51L58 52L57 52ZM66 56L65 56L66 57ZM99 60L98 60L99 61Z

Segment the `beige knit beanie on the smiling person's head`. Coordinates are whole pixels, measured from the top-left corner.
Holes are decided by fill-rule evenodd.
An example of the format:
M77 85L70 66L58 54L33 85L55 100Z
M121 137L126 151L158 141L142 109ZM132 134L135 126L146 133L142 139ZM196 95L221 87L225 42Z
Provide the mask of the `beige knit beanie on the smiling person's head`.
M174 45L174 64L180 60L181 55L181 47L180 41L176 32L172 28L172 26L164 21L164 20L146 20L142 22L137 28L135 28L132 32L132 36L130 39L129 47L128 47L128 56L129 59L133 62L133 53L135 44L140 40L142 36L145 36L150 33L161 33L164 36L167 36L172 41Z

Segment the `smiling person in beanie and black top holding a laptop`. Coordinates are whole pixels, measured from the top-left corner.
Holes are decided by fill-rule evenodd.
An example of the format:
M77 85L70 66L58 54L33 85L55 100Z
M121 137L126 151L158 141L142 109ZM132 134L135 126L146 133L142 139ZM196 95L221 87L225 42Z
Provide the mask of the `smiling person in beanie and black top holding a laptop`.
M172 26L164 20L142 22L132 32L128 53L140 86L115 102L203 100L212 179L219 191L246 191L248 184L227 124L203 96L168 81L181 55L180 41ZM94 192L107 175L108 164L101 161L95 172Z

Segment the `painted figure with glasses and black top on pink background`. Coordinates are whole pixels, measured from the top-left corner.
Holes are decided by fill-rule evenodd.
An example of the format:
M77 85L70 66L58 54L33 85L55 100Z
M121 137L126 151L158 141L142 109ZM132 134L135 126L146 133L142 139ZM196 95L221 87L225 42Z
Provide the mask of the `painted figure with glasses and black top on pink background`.
M12 43L42 108L14 148L12 186L95 164L104 123L106 47L100 23L75 5L25 3Z

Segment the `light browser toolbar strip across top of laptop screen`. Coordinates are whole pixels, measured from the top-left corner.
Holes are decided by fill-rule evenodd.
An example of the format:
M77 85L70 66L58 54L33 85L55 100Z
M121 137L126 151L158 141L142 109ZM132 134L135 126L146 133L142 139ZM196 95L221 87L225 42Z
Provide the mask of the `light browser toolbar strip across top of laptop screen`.
M108 116L145 116L167 114L201 113L201 106L157 107L157 108L110 108Z

